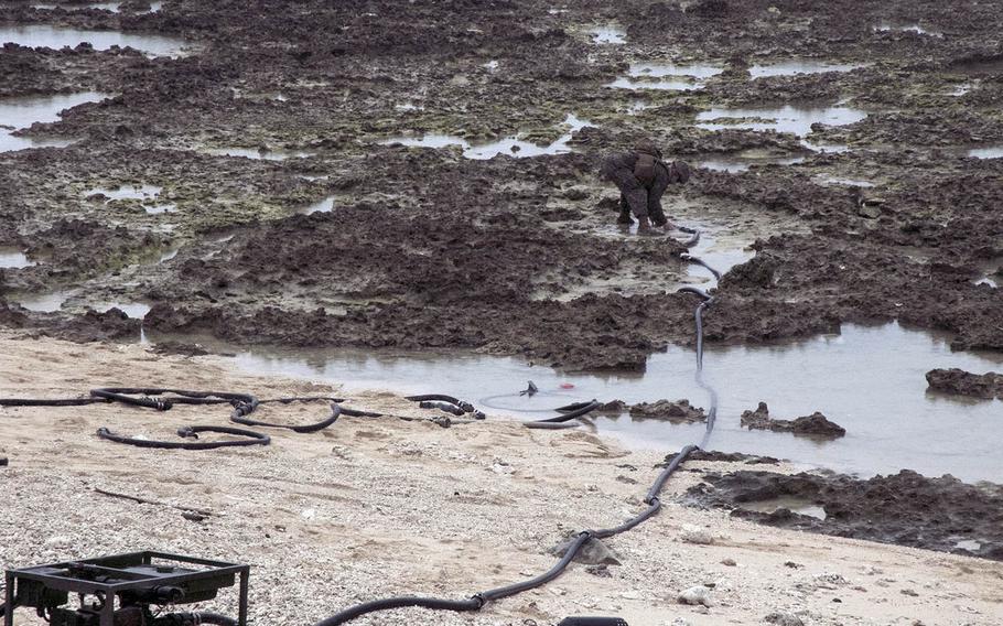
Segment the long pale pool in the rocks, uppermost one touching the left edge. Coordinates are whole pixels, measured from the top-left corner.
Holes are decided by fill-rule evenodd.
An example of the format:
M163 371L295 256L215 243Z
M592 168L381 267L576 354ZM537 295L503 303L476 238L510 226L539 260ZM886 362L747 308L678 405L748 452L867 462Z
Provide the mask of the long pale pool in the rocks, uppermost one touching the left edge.
M162 35L140 35L118 31L82 31L46 24L28 26L0 26L0 44L15 43L30 47L76 47L89 43L94 50L109 50L111 46L132 47L148 56L177 57L191 46L187 42Z

